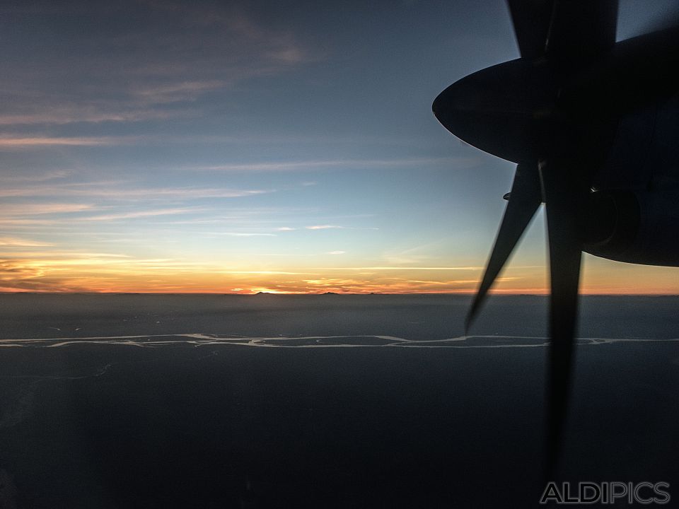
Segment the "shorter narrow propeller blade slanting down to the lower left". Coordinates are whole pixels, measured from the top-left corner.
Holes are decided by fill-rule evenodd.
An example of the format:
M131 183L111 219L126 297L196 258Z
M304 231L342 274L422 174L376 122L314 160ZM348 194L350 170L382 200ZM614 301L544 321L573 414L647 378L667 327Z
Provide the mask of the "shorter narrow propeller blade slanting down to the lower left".
M486 271L476 293L467 320L465 321L465 334L470 324L476 317L489 288L504 267L509 255L518 243L518 240L535 215L535 211L542 201L540 191L540 174L538 166L521 163L516 166L514 182L509 193L509 203L504 211L504 217L495 239L495 245L490 254Z

